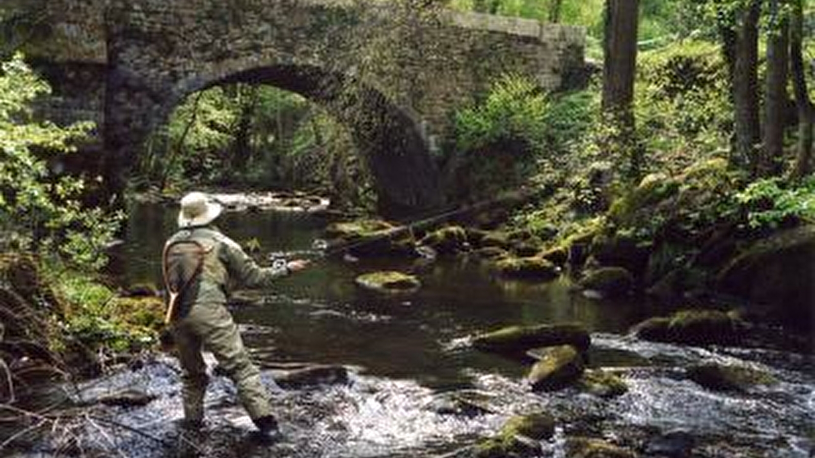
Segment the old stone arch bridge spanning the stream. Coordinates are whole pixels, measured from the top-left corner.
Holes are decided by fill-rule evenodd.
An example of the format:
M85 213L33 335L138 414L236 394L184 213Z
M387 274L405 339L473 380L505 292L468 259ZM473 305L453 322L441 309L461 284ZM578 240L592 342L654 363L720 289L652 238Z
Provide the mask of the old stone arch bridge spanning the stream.
M401 2L3 2L46 15L24 47L55 88L43 110L97 121L114 191L187 95L245 81L305 95L344 121L382 208L434 208L443 190L433 153L455 108L504 73L546 90L578 86L584 73L583 29Z

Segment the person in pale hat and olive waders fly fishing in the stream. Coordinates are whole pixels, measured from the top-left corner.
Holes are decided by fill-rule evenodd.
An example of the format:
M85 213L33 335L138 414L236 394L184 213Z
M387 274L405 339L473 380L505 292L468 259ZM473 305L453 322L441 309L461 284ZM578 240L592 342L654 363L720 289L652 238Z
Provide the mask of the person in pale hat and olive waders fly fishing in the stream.
M301 271L308 262L258 266L235 241L211 226L221 210L221 205L201 192L184 196L179 231L164 249L165 286L170 293L165 320L184 371L184 419L193 428L204 420L208 377L201 351L206 347L235 383L240 403L262 437L275 440L280 432L269 394L227 310L227 297L233 287L270 287L278 277Z

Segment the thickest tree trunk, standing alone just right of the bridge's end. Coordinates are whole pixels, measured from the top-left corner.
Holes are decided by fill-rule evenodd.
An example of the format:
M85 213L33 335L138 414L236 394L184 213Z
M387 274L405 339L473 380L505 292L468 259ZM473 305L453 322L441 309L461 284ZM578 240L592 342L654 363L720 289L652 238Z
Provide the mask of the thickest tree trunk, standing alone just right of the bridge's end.
M639 0L606 0L602 109L619 130L613 148L629 152L629 165L635 177L641 166L641 151L634 144L632 112L638 13Z

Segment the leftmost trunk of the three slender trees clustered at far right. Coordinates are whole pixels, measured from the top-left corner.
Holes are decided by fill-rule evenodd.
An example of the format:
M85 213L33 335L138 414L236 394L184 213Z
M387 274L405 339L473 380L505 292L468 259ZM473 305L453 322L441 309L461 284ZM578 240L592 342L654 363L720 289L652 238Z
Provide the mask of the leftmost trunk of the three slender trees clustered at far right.
M758 65L759 65L759 0L754 0L738 13L733 103L735 110L736 150L732 165L744 166L756 157L760 142Z

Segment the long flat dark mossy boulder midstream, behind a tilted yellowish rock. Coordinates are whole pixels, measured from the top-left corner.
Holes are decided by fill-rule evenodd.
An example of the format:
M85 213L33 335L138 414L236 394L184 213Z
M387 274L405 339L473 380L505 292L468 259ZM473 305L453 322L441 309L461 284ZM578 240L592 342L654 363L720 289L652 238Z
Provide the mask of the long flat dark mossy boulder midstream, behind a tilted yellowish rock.
M509 326L473 338L473 346L482 351L523 357L526 351L545 347L571 345L584 351L591 344L588 331L580 324L538 324Z

